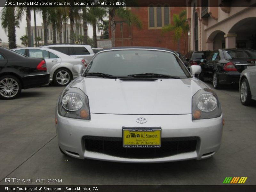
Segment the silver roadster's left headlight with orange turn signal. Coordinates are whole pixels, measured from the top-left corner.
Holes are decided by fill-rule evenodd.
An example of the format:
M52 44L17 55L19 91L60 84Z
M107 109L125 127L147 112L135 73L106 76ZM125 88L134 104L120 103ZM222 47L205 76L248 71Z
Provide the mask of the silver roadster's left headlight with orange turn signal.
M58 111L64 117L90 119L87 95L78 88L66 88L60 95Z

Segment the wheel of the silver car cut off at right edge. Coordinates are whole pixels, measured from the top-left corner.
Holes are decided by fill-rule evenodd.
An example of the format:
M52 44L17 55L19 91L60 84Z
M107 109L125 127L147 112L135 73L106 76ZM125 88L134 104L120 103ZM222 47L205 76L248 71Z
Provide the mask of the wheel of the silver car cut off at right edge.
M243 79L240 84L240 101L247 106L252 102L252 94L247 79Z

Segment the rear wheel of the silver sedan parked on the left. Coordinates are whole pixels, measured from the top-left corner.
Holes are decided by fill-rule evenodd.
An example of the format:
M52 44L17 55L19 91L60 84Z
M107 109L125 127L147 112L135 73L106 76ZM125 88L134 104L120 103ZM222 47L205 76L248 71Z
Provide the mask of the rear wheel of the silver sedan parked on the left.
M68 69L58 69L53 75L53 83L57 86L66 86L70 83L71 73Z

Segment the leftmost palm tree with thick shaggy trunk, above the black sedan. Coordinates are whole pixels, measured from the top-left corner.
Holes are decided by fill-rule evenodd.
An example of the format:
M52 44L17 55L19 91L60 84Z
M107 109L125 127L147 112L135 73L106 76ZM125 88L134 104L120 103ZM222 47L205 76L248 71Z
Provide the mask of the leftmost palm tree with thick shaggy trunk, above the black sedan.
M17 18L17 9L15 7L4 7L2 9L1 25L5 33L8 33L9 48L17 48L15 27L19 27L19 20Z

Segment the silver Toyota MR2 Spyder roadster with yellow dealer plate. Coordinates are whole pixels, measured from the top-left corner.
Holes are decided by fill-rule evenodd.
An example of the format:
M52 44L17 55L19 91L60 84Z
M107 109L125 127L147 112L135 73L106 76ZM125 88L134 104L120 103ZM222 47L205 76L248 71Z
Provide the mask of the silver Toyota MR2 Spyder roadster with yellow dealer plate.
M191 66L199 74L200 66ZM60 94L56 131L72 157L157 163L213 156L222 110L216 93L179 57L157 47L98 52Z

